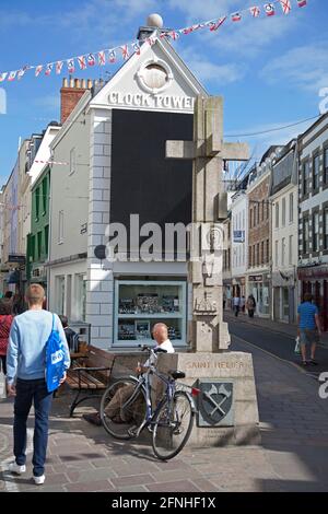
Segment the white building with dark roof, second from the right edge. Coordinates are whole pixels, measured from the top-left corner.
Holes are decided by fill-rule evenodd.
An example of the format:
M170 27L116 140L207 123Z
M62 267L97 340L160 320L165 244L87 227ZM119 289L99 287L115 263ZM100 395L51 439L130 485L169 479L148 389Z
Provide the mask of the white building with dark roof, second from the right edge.
M292 140L272 164L272 318L295 323L297 291L297 147Z

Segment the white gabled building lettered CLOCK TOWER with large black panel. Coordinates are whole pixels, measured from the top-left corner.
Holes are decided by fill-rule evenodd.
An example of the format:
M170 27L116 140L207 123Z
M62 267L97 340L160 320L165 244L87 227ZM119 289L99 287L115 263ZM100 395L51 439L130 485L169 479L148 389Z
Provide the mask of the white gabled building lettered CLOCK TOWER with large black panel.
M160 32L84 93L51 145L55 161L69 165L51 170L49 307L85 318L92 343L105 349L150 341L159 320L177 347L188 344L186 259L134 258L147 222L191 221L192 165L166 160L165 141L192 139L194 102L207 96ZM108 223L127 230L127 261L95 257Z

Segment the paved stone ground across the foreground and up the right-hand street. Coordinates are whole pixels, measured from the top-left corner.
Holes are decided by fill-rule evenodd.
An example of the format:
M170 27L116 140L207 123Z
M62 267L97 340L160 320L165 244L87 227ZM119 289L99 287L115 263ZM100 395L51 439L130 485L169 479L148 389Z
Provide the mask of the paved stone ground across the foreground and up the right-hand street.
M138 442L115 441L102 428L81 419L87 407L77 409L77 417L69 419L66 394L54 400L46 483L35 487L31 449L23 477L5 472L12 444L12 401L2 399L0 490L327 491L328 400L319 398L318 384L290 363L237 338L233 349L253 353L260 446L187 447L173 460L161 463L153 456L148 435Z

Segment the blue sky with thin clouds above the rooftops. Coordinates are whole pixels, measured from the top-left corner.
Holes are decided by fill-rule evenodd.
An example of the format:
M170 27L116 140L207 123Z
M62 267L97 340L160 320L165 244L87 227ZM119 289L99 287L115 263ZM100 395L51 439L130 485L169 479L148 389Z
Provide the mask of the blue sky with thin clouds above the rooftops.
M0 72L28 65L56 61L136 37L147 15L159 12L165 26L186 25L220 17L256 0L1 0ZM226 135L244 135L293 124L319 113L319 90L328 87L328 2L307 0L292 13L225 22L218 32L207 28L174 43L210 94L224 96ZM79 71L80 78L105 78L113 65ZM59 119L57 77L33 71L21 81L2 83L7 115L0 114L0 183L5 183L16 157L19 138L38 132ZM229 140L248 141L260 157L270 144L288 142L309 124L278 132Z

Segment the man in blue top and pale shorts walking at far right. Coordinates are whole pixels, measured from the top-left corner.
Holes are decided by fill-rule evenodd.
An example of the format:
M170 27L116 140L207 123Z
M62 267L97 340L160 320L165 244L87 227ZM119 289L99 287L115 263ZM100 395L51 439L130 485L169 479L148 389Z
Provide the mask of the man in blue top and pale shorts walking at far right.
M304 302L297 308L297 336L301 340L302 364L304 366L307 366L308 362L314 365L318 364L315 360L315 353L320 339L321 328L318 307L312 302L313 295L306 293ZM306 347L309 347L311 351L309 361L306 359Z

